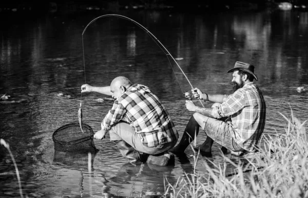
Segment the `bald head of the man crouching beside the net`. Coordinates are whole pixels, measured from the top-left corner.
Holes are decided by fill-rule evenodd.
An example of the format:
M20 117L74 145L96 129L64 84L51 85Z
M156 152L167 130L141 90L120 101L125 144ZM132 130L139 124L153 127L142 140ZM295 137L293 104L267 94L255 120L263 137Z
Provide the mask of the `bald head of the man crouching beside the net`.
M132 83L127 77L118 76L114 78L110 84L112 97L118 99L131 85Z

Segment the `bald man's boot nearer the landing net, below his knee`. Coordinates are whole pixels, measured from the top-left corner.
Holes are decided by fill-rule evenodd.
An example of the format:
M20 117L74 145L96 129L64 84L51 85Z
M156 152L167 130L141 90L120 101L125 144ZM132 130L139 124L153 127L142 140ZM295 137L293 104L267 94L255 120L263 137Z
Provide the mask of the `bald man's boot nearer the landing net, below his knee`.
M114 143L119 148L120 153L123 157L128 159L128 161L132 164L141 163L140 161L140 154L137 150L135 150L132 146L127 144L123 140L114 141Z

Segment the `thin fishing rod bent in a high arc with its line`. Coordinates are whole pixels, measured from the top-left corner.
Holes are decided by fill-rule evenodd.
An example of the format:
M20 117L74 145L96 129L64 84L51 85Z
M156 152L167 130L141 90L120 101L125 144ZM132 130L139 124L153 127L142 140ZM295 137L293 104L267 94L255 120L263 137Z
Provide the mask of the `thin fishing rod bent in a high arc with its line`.
M194 87L192 87L190 81L188 80L186 74L183 72L182 68L179 66L179 64L177 63L177 61L175 60L175 58L174 58L174 57L169 53L169 51L165 48L165 46L164 46L164 45L163 45L163 44L162 44L162 43L150 32L150 31L149 31L149 30L147 30L144 26L142 26L141 24L139 24L138 22L134 21L134 20L131 19L131 18L128 18L128 17L126 17L126 16L119 15L119 14L105 14L105 15L99 16L99 17L97 17L97 18L94 18L94 19L85 27L84 31L82 32L82 49L83 49L83 58L84 58L84 59L83 59L83 61L84 61L84 68L85 68L85 53L84 53L83 35L84 35L86 29L88 28L88 26L91 25L93 22L97 21L97 19L99 19L99 18L104 18L104 17L109 17L109 16L115 16L115 17L119 17L119 18L126 19L126 20L128 20L128 21L130 21L130 22L136 24L136 25L137 25L138 27L140 27L142 30L144 30L144 31L153 39L153 41L161 48L161 50L166 54L167 58L168 58L168 56L170 56L170 57L172 58L172 60L174 60L174 62L177 64L177 66L179 67L179 69L181 70L181 72L184 74L184 76L185 76L187 82L189 83L191 89L194 89ZM183 88L182 88L182 86L181 86L181 84L180 84L180 82L179 82L179 80L178 80L178 77L177 77L177 75L176 75L176 72L175 72L174 68L172 67L172 64L171 64L169 58L168 58L168 61L169 61L169 64L170 64L170 66L171 66L171 68L172 68L172 71L174 72L174 74L175 74L175 76L176 76L177 82L178 82L178 84L180 85L180 88L181 88L183 94L185 95L186 98L188 98L188 100L191 100L190 93L189 93L188 91L186 91L186 92L183 91ZM86 74L85 74L85 82L86 82ZM199 101L200 101L201 105L203 106L203 104L202 104L200 98L199 98ZM204 106L203 106L203 107L204 107Z

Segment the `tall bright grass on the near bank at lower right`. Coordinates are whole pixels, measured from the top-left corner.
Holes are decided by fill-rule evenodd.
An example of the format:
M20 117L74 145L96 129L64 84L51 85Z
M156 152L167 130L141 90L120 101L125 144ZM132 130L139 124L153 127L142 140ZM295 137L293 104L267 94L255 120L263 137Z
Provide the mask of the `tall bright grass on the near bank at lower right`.
M306 121L301 123L292 110L290 118L281 115L285 131L263 135L260 152L244 156L246 163L235 164L225 155L221 164L208 160L207 172L184 173L176 184L165 179L164 197L308 197ZM198 155L194 151L195 164ZM226 173L227 163L234 166L233 174Z

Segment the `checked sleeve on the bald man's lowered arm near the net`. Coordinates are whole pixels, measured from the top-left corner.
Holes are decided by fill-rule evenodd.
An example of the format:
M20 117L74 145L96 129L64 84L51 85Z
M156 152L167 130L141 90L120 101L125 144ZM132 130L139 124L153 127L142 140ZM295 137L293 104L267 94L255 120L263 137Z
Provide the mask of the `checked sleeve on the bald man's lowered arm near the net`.
M121 121L126 113L126 109L119 101L114 101L112 108L105 116L101 127L105 130L110 130L111 126Z

